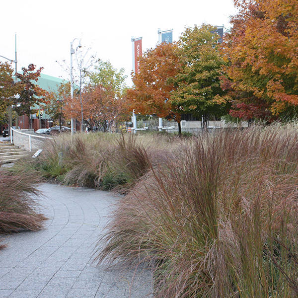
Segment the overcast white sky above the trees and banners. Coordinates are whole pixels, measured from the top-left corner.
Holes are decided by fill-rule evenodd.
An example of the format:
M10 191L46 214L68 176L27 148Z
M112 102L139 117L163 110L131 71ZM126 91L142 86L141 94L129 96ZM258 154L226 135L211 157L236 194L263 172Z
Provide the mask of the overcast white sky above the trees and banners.
M70 62L75 37L130 76L132 36L143 36L145 51L158 41L158 28L174 29L177 40L185 26L210 23L228 28L229 16L235 13L233 0L2 0L0 8L0 55L14 59L16 32L18 71L33 63L44 67L44 74L66 79L68 74L56 61Z

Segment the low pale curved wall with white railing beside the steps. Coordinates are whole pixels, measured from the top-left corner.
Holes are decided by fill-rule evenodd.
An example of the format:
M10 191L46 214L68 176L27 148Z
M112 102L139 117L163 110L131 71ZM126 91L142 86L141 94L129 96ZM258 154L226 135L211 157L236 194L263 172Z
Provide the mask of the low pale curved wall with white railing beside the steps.
M12 127L10 128L10 143L24 148L27 151L32 151L32 149L40 149L46 139L52 138L26 134L19 130L13 129Z

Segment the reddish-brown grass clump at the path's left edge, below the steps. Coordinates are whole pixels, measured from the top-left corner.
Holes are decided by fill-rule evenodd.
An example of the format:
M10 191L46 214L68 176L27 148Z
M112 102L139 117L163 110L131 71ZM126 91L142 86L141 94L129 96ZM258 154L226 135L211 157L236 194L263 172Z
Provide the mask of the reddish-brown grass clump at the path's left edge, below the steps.
M40 195L34 174L0 169L0 234L39 230L46 218L33 199Z

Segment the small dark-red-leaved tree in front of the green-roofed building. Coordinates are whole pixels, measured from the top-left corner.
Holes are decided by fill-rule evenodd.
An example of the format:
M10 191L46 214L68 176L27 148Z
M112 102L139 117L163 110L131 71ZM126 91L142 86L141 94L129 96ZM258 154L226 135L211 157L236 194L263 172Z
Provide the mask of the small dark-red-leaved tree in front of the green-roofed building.
M43 68L36 70L35 65L29 64L28 68L22 68L22 74L16 74L20 97L15 99L14 110L18 115L26 114L30 118L31 107L45 101L47 92L34 83L38 81L42 70ZM30 122L31 127L32 123Z

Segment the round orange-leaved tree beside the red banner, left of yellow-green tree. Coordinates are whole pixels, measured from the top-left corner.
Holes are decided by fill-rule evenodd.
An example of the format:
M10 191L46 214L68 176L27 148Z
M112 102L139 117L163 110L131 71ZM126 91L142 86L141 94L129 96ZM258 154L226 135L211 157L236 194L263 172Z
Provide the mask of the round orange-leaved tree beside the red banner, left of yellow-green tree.
M173 82L180 70L176 43L161 43L140 57L140 72L133 74L134 86L127 91L131 110L142 115L156 114L178 123L181 135L180 105L170 100L176 89Z

